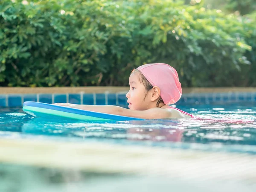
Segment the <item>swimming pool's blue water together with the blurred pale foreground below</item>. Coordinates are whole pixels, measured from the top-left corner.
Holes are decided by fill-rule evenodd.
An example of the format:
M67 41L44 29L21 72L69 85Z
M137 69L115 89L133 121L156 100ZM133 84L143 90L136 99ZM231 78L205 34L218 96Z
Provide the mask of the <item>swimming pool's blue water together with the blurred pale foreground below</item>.
M21 108L0 108L0 160L4 162L0 177L5 178L0 189L10 189L8 183L15 177L23 183L20 192L43 185L47 187L41 191L55 192L84 187L90 191L167 191L170 187L254 191L255 103L177 108L199 119L58 122L26 115Z

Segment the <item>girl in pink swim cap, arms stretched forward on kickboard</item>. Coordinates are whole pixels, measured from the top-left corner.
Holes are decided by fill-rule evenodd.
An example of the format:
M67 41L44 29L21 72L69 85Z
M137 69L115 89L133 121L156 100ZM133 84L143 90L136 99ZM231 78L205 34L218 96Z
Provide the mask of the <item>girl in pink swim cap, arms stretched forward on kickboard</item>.
M55 103L64 107L87 111L130 116L141 119L191 118L191 114L169 106L182 94L177 71L168 64L145 64L134 69L129 77L130 90L126 94L128 108L113 105L75 105Z

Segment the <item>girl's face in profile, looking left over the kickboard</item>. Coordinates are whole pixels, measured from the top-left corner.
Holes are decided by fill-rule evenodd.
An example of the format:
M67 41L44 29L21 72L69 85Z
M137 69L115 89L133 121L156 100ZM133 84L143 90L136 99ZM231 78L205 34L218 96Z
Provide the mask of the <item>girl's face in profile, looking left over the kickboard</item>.
M150 108L151 100L149 94L146 95L145 86L139 80L138 73L132 73L129 77L130 90L126 94L131 110L147 110Z

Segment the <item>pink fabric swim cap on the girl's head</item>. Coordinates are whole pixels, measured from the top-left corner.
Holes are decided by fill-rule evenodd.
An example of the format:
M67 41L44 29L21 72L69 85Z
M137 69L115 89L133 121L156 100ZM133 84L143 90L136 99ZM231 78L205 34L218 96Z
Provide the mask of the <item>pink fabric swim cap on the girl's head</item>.
M180 99L182 89L175 68L168 64L155 63L142 65L138 67L137 70L139 70L153 86L160 88L160 96L164 104L174 104Z

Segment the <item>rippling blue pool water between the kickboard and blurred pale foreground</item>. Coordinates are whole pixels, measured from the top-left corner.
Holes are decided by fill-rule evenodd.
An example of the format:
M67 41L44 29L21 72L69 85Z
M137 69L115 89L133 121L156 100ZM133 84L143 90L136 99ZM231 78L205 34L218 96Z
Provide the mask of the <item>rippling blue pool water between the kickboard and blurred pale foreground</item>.
M44 136L45 139L166 146L256 146L256 107L253 103L177 106L197 119L160 119L117 123L59 121L27 115L21 108L1 108L0 137ZM57 138L56 138L57 137ZM177 145L177 144L176 144ZM239 146L240 145L240 146Z

